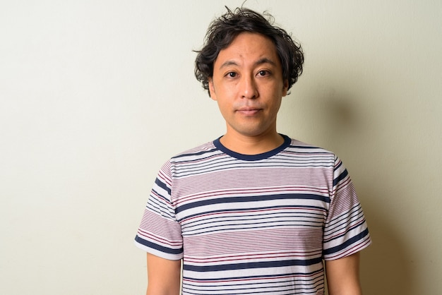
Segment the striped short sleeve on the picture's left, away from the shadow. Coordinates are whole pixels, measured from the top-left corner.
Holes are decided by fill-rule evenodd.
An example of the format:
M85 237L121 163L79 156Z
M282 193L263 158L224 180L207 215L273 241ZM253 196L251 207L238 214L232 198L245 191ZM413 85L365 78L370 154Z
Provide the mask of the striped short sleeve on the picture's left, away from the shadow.
M170 171L170 162L166 162L157 174L138 227L135 244L161 258L179 260L183 257L183 240L181 226L177 222L171 201Z

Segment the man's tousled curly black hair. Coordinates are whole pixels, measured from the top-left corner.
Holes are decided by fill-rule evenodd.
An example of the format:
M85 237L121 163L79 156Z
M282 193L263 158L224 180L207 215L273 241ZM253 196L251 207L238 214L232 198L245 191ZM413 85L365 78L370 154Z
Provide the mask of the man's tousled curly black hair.
M203 88L209 90L208 80L213 76L213 64L220 51L228 47L241 32L256 32L275 44L281 61L282 77L288 81L290 89L302 73L304 53L300 44L273 23L274 18L269 13L261 15L248 8L236 8L234 11L227 8L227 13L213 20L205 35L203 49L196 51L195 76Z

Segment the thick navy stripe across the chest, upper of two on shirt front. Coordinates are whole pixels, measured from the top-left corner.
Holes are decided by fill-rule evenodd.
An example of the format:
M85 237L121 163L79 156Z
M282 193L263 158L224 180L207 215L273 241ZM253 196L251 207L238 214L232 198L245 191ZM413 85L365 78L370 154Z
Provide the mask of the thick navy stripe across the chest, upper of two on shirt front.
M266 200L321 200L325 203L330 203L329 197L322 195L313 195L309 193L287 193L280 195L251 195L249 197L231 197L231 198L216 198L211 200L201 200L177 207L176 212L182 212L194 207L200 207L205 205L214 205L222 203L244 203L244 202L261 202Z

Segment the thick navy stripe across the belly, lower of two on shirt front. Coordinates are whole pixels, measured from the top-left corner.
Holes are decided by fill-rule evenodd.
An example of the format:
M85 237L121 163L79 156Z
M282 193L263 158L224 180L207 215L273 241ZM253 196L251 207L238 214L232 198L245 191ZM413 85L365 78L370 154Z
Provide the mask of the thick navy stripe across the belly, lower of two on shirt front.
M261 263L233 263L225 265L184 265L184 270L191 270L193 272L219 272L222 270L251 270L253 268L268 268L268 267L285 267L294 265L315 265L322 263L322 258L313 258L307 260L282 260L282 261L266 261Z

